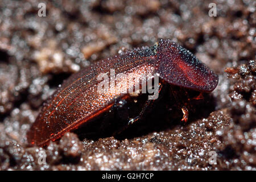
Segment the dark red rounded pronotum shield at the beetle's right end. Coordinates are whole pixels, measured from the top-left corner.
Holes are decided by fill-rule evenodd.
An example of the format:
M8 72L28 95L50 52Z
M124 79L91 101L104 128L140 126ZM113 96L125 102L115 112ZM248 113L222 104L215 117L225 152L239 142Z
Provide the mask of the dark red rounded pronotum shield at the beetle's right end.
M218 77L187 49L171 40L160 39L156 73L169 84L200 92L212 92Z

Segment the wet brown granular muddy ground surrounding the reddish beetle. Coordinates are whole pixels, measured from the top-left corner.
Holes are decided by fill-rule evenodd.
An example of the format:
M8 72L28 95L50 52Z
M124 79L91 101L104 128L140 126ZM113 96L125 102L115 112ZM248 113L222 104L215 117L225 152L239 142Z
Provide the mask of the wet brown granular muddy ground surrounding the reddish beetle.
M0 2L1 170L256 169L255 1L47 1L39 17L40 2ZM179 42L219 76L188 123L155 113L119 138L67 133L27 147L40 106L65 78L158 38Z

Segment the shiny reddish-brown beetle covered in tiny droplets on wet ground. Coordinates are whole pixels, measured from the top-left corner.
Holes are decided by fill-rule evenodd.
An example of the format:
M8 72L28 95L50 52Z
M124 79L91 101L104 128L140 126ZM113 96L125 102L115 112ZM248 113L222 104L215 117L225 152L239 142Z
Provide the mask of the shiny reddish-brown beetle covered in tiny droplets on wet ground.
M28 143L44 146L51 140L59 139L64 133L94 121L99 115L108 113L114 106L131 97L137 97L122 93L119 89L114 92L97 92L100 84L97 76L101 73L110 76L110 69L115 70L115 76L122 73L119 77L121 81L129 73L156 74L159 76L159 93L162 92L163 85L174 86L178 88L177 92L188 89L209 93L218 84L217 75L191 52L169 39L159 39L154 46L119 53L70 76L44 103L36 121L27 132ZM133 85L125 85L125 89L129 89L129 86ZM139 86L141 89L142 84ZM137 117L127 120L127 126L141 120L151 102L154 100L147 100ZM184 114L181 120L187 121L187 107L183 105L180 109Z

